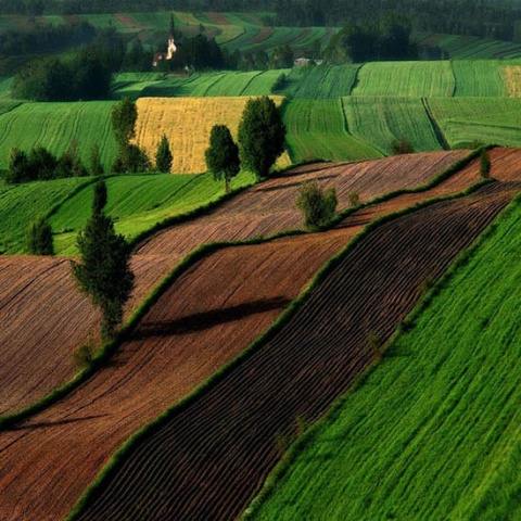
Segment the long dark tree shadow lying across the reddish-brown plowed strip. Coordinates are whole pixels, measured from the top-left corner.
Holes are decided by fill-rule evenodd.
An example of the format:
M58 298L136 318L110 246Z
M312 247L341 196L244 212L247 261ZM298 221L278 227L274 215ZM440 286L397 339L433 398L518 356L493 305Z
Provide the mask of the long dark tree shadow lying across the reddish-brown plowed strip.
M173 336L176 334L204 331L214 326L241 320L251 315L271 312L274 309L283 309L290 303L291 300L289 298L276 296L274 298L264 298L238 306L225 307L223 309L196 313L177 320L143 322L131 335L131 339L143 340L151 336Z

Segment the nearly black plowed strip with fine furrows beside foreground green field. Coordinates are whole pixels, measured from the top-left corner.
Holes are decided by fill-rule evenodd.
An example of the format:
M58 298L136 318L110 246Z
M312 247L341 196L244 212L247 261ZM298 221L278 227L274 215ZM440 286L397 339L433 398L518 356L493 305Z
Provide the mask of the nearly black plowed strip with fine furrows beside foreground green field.
M441 277L520 188L497 182L378 227L272 340L138 444L78 519L234 519L298 419L316 421L350 387L373 359L371 336L387 340L422 281Z

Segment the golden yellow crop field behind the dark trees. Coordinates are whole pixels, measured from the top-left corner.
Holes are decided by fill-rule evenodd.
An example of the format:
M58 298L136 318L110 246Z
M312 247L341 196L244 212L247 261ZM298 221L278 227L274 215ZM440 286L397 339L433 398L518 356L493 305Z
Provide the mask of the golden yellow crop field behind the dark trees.
M271 99L280 105L283 98ZM171 171L199 174L206 171L204 151L214 125L226 125L237 140L239 122L247 98L140 98L136 141L153 160L163 134L174 155ZM284 153L277 163L291 164Z

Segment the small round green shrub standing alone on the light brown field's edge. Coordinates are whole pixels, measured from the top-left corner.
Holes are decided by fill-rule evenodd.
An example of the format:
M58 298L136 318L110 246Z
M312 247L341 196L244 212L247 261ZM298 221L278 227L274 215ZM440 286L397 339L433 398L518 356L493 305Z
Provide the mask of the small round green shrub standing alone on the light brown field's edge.
M338 202L334 188L323 190L317 181L306 181L298 189L296 206L304 216L305 226L317 228L333 218Z

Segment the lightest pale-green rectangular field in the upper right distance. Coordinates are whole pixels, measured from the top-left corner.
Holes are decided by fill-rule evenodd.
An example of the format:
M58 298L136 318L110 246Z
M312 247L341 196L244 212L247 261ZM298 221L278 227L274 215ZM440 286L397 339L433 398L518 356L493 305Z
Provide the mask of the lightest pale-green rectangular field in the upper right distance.
M353 96L449 98L455 89L450 62L372 62L360 67Z

